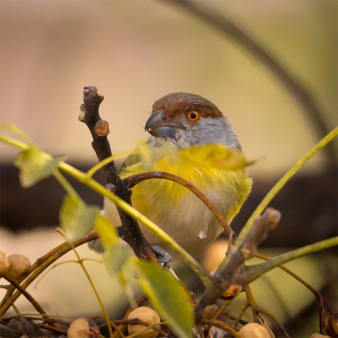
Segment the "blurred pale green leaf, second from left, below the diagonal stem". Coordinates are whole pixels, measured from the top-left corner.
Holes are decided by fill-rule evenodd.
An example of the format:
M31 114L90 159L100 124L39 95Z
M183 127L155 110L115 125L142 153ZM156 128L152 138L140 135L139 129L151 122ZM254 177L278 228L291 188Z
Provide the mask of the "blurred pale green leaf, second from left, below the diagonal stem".
M100 208L66 195L59 213L62 230L69 238L80 236L94 227Z

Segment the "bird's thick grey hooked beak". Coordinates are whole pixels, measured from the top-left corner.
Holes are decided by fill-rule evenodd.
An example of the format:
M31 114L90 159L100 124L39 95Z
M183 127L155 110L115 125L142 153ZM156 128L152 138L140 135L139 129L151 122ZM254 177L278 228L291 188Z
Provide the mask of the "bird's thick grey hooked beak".
M162 137L175 137L174 128L177 125L173 122L166 122L165 118L165 110L161 109L154 113L152 113L146 122L144 127L145 131L148 131L152 136L162 136Z

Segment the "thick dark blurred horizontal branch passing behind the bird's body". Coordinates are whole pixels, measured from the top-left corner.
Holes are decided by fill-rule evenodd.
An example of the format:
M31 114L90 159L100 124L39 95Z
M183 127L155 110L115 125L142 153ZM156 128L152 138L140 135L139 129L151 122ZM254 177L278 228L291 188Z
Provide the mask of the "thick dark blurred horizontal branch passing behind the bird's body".
M90 165L70 164L81 171L90 168ZM58 225L58 213L65 191L53 177L23 189L19 184L18 169L13 164L2 164L0 171L2 228L19 232L37 226ZM101 170L93 178L105 184ZM102 206L100 195L72 177L67 176L67 179L86 203ZM231 223L236 234L275 182L276 178L255 178L252 192ZM282 212L283 217L280 225L261 246L299 247L336 236L337 185L337 170L292 177L270 203L271 207Z

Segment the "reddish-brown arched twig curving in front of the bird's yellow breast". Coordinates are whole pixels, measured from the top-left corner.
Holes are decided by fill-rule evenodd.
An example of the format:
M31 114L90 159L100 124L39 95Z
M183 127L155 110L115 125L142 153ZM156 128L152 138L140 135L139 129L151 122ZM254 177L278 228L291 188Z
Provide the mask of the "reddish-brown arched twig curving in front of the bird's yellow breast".
M164 172L164 171L150 171L145 172L137 175L131 175L126 177L123 182L125 183L126 187L131 189L136 184L146 180L146 179L152 179L152 178L162 178L162 179L168 179L170 181L176 182L183 187L189 189L191 192L193 192L207 207L208 209L213 213L213 215L216 217L216 219L220 222L222 225L224 232L227 236L230 236L231 233L233 233L234 239L236 239L235 233L232 231L230 225L228 222L224 219L224 217L217 211L214 204L210 201L210 199L204 195L199 189L197 189L194 185L192 185L190 182L185 180L182 177Z

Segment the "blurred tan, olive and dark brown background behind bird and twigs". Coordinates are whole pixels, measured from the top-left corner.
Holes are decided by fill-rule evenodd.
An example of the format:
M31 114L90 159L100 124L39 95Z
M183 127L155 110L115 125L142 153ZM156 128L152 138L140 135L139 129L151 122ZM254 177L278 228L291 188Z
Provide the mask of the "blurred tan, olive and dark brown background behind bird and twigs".
M238 233L273 184L337 125L337 5L326 0L2 0L0 121L16 124L44 151L66 154L68 163L87 170L97 159L91 135L78 121L84 86L94 84L105 97L100 115L110 124L113 153L132 150L147 138L144 124L155 100L171 92L199 94L229 117L248 159L264 156L247 169L255 183L232 223ZM243 36L270 58L257 56ZM285 73L276 75L279 68L271 59ZM17 150L0 144L0 151L1 250L20 252L34 262L63 241L54 229L65 192L53 178L22 189L12 164ZM100 173L96 178L103 182ZM86 202L102 204L99 196L71 182ZM262 244L270 256L336 236L337 140L316 154L271 206L282 212L282 220ZM304 274L333 302L336 258L336 250L313 255L293 263L294 272ZM108 283L115 290L116 282L104 267L89 265L107 306L120 315L117 308L123 306L116 302L127 302L122 292L112 295L106 287ZM79 288L80 269L74 270L66 265L53 269L31 290L49 312L76 316L83 315L79 309L99 311L84 279ZM282 290L276 283L285 276L275 276L269 278ZM59 292L57 300L51 283ZM316 315L315 298L299 283L283 289L285 304L272 287L271 301L266 288L257 287L261 296L256 301L273 309L288 328L295 328L294 320L304 324L304 318ZM79 290L91 300L81 304ZM300 320L297 316L304 313ZM305 326L311 334L318 322L310 322L314 326ZM308 332L293 334L306 337Z

